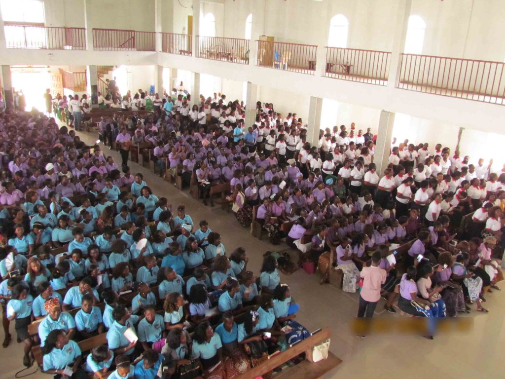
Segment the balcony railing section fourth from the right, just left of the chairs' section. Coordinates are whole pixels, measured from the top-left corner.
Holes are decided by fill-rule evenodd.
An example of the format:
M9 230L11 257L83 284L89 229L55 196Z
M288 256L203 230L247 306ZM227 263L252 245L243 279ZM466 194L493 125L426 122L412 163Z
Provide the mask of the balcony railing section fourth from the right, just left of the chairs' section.
M197 57L215 61L249 64L249 40L242 38L196 36Z

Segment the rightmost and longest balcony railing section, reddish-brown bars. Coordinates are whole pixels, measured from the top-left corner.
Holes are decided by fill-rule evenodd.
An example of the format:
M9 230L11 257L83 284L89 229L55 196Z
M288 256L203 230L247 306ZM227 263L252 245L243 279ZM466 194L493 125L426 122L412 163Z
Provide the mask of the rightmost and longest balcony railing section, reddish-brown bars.
M398 88L505 105L505 64L402 54Z

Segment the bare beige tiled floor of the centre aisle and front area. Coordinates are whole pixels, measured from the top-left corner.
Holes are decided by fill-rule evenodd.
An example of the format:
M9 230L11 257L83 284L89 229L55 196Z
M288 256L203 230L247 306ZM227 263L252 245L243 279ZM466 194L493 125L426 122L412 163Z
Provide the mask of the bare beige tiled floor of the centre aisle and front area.
M86 143L91 144L95 136L83 134ZM108 155L108 149L104 148ZM119 154L112 155L120 163ZM142 172L144 179L158 196L165 196L174 206L184 203L186 210L197 223L202 219L209 222L212 230L222 235L226 250L231 253L236 247L244 247L249 256L249 268L259 273L262 254L269 250L280 250L284 245L274 247L267 241L252 237L248 229L242 228L233 213L226 213L219 207L211 209L181 193L172 184L158 178L152 172L131 164L132 172ZM309 276L298 270L292 275L281 276L289 283L291 292L301 305L297 321L309 330L330 326L332 329L330 350L343 360L324 377L374 377L414 378L470 378L496 375L503 368L500 358L505 348L504 316L500 311L505 307L503 293L494 291L487 295L484 305L490 313L472 312L474 329L463 336L437 336L434 341L417 336L369 336L359 339L349 332L349 321L356 316L358 294L344 294L332 286L319 285L319 276ZM503 288L505 286L502 285ZM383 312L383 301L377 306L377 317L392 317ZM474 308L475 309L475 308ZM399 316L396 316L399 317ZM0 379L12 379L22 368L22 346L15 342L15 331L11 325L14 343L7 349L0 348ZM3 330L0 341L3 341ZM34 370L34 366L21 373ZM41 372L30 375L33 379L49 377Z

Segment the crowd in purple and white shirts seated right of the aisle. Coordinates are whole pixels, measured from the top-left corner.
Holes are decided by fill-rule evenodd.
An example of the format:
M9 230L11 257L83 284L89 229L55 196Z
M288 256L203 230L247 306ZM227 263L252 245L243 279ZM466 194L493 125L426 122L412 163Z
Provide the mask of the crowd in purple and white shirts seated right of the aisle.
M272 104L258 102L256 120L248 126L243 104L225 100L200 96L188 115L189 103L179 96L170 111L155 114L154 128L139 124L143 132L135 131L145 135L143 141L153 141L148 135L155 134L152 147L159 167L166 167L171 177L180 175L183 186L193 180L204 204L212 186L229 183L227 199L242 226L255 220L270 242L278 244L285 237L289 246L304 252L302 259L316 263L323 252L332 250L332 263L343 272L346 292L357 291L360 270L371 264L380 246L414 240L402 272L422 255L435 276L452 279L452 272L443 270L458 263L461 250L453 245L474 239L477 259L468 264L479 263L470 270L484 281L479 299L502 279L505 171L495 172L492 161L471 164L469 156L441 144L431 151L428 144L393 140L389 165L378 173L373 162L376 136L370 129L363 133L351 124L350 130L344 125L321 130L318 145L311 146L296 114L284 117ZM307 240L310 243L304 243ZM489 241L495 243L486 248L484 241L488 246ZM443 253L451 254L446 268L439 264L440 255L446 257ZM402 272L385 261L382 265L388 273L385 308L395 312L394 289ZM441 296L450 297L449 315L468 311L461 296L447 287ZM468 303L476 301L477 309L486 311L479 299L460 289Z

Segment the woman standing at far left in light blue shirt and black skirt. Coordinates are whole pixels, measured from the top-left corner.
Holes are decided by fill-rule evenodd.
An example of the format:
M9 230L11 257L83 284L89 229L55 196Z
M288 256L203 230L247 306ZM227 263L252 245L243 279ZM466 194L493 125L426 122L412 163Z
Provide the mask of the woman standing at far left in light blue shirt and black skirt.
M31 366L30 350L32 340L28 333L28 325L31 322L31 307L33 298L22 284L17 284L12 289L12 299L7 303L7 318L9 321L16 320L16 333L18 339L24 343L23 364Z

